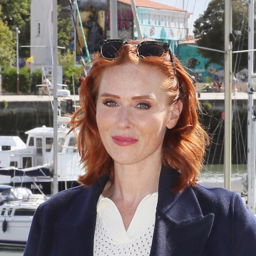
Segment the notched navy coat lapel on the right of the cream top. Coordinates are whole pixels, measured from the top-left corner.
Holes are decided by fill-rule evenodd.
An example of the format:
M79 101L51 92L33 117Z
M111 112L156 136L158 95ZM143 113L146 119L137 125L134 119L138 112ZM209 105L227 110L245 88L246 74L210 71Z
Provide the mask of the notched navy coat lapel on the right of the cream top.
M214 214L203 216L191 187L170 192L178 176L162 168L151 256L199 256L211 232Z

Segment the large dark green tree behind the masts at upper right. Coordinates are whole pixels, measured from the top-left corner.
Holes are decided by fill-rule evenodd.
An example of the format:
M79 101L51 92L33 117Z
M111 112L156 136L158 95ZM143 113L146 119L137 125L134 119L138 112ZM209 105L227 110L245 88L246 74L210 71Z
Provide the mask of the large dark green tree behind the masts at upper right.
M248 49L248 0L233 0L232 34L233 51ZM194 23L194 35L199 40L198 46L224 51L225 5L223 0L211 0L206 11ZM198 49L209 63L223 64L224 54ZM247 53L240 53L238 58L233 54L233 68L247 66Z

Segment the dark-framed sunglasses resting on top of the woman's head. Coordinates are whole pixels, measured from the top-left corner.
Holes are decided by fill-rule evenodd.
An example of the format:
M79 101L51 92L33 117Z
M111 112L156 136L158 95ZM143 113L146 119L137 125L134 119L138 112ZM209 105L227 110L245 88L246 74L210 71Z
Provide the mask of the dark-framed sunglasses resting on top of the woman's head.
M126 44L128 44L128 41L121 39L101 40L99 41L101 56L107 60L115 60L118 58L118 51ZM173 52L169 43L164 43L162 41L143 41L137 45L137 54L140 58L148 56L162 57L167 51L169 51L174 73L177 76Z

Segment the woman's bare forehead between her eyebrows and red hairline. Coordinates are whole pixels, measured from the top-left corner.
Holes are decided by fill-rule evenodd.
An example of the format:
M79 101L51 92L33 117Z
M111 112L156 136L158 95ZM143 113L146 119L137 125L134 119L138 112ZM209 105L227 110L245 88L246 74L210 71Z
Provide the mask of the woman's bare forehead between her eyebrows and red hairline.
M147 64L127 63L106 68L99 83L99 94L105 90L125 93L149 93L163 90L164 73Z

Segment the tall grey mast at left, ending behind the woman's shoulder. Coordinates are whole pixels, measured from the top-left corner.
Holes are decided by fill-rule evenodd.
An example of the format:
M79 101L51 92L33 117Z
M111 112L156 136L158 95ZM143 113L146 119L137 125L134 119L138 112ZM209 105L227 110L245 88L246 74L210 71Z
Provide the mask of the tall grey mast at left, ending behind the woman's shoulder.
M53 0L53 195L58 189L57 0Z

